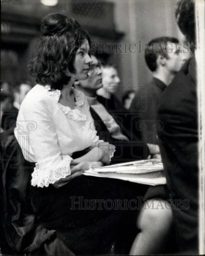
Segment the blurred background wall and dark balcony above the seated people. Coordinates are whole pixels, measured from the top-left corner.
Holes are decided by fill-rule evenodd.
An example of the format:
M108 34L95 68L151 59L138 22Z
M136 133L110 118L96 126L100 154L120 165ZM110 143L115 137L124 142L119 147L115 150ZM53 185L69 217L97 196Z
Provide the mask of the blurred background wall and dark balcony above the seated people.
M2 0L1 80L35 84L27 62L41 18L61 12L76 18L88 31L102 61L117 66L121 86L136 88L151 77L144 44L158 36L184 40L175 22L175 4L176 0Z

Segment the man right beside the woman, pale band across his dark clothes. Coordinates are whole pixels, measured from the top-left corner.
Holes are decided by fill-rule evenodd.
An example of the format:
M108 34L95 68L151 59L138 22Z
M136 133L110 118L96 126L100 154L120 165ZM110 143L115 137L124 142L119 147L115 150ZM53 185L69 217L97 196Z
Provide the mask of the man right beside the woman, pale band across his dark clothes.
M94 55L91 55L91 58L92 64L88 79L75 82L75 87L87 96L90 112L98 132L97 135L116 146L112 163L146 159L149 155L147 145L131 142L122 133L121 127L115 118L100 103L101 97L96 95L96 91L102 88L102 71L97 58Z

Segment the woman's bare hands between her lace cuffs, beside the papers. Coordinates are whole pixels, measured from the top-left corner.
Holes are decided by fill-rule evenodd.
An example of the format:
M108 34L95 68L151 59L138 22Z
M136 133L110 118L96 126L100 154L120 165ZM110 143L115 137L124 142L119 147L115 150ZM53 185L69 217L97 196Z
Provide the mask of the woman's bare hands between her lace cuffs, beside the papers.
M90 162L85 161L85 162L80 162L78 160L72 160L70 164L70 169L71 169L71 174L63 179L60 179L56 181L53 185L56 188L60 188L66 183L68 183L70 180L81 176L85 170L88 170L90 168Z

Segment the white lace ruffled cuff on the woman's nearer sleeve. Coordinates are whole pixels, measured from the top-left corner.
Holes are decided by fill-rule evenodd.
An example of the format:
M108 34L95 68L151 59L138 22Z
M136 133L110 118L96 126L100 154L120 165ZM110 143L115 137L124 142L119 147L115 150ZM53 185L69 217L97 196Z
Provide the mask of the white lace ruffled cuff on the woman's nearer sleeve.
M50 168L41 168L38 163L32 173L32 186L48 187L49 184L54 184L56 181L65 178L71 174L70 162L72 158L70 156L61 156L62 161Z

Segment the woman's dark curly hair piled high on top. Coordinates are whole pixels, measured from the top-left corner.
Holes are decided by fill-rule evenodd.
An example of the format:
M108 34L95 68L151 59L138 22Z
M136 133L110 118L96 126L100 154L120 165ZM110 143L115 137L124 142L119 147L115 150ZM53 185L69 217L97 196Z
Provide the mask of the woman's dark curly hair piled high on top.
M29 63L30 73L37 83L62 90L71 78L64 71L68 68L71 73L76 72L75 54L85 39L90 45L89 35L76 20L60 13L48 14L42 20L35 57Z

